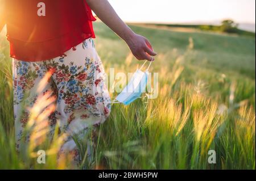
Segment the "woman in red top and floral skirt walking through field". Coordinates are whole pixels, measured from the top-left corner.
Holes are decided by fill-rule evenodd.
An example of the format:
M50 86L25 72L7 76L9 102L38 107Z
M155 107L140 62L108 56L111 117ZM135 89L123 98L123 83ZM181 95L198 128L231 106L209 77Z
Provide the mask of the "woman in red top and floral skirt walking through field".
M25 92L30 92L26 102L32 107L39 96L36 87L49 72L51 79L42 93L52 92L57 97L56 110L49 116L51 130L59 123L60 130L72 137L109 116L104 68L92 39L92 22L96 20L92 10L127 43L138 60L153 61L151 56L156 55L149 41L123 23L107 0L1 1L0 30L7 25L13 57L18 149L29 115L27 110L20 112ZM71 137L61 149L65 153L76 150Z

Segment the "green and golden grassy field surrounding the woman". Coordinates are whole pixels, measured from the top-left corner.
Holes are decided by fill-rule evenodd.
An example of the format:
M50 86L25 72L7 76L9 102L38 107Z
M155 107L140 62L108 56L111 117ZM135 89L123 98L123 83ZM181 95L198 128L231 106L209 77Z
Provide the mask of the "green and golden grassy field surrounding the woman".
M91 159L80 146L79 169L255 169L255 38L131 28L158 52L150 68L159 74L158 89L152 87L158 97L114 104ZM94 29L106 73L142 65L108 27L94 23ZM68 169L52 151L60 136L38 145L49 150L46 164L36 163L33 143L16 154L11 59L3 33L0 64L0 169ZM216 163L208 162L209 150L216 151Z

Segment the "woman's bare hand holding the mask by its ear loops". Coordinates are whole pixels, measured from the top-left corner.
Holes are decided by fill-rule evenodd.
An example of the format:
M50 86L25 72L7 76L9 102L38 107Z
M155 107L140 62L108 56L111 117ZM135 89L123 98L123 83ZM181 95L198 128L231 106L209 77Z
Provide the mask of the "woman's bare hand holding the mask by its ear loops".
M131 52L138 60L154 61L156 53L152 49L150 42L143 36L133 33L126 43L129 46Z

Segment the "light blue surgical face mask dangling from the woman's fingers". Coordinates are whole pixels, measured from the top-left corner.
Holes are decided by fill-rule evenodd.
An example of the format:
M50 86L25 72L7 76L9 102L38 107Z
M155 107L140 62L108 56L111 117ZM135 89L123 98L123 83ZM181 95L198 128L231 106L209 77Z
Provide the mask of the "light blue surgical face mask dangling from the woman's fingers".
M147 61L144 62L140 69L135 71L125 89L123 89L117 98L115 98L115 100L113 100L111 103L123 103L128 105L134 102L134 100L141 98L142 93L146 91L148 69L150 68L152 61L150 62L150 65L148 65L146 71L142 71L141 69L146 62Z

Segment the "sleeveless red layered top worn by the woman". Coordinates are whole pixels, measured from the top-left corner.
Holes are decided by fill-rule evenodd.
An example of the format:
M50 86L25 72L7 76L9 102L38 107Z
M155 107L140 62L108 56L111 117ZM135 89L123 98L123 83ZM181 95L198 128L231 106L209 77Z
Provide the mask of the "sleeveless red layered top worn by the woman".
M4 1L10 55L18 60L49 60L95 37L96 19L85 0Z

